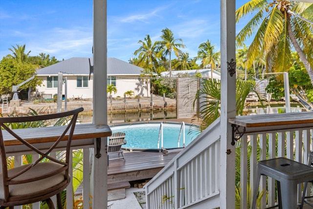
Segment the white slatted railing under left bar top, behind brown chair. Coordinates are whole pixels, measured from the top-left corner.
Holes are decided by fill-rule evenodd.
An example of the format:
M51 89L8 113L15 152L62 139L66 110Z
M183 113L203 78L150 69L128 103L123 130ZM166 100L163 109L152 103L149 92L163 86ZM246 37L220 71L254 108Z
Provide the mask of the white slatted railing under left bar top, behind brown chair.
M66 205L66 208L67 209L72 209L73 208L73 193L75 191L73 191L73 185L77 185L77 179L80 179L81 176L83 173L83 200L84 200L84 209L89 209L89 200L90 200L90 196L92 197L92 194L90 192L90 170L91 170L91 162L89 162L90 160L90 153L93 153L93 148L90 148L90 146L86 146L86 147L79 147L80 148L80 151L83 152L83 159L81 159L81 161L79 163L77 163L77 166L73 168L73 163L77 162L77 159L72 159L72 156L70 157L71 158L71 164L70 164L70 173L71 174L71 182L70 184L67 186L67 194L66 194L66 198L67 198L67 205ZM59 151L62 151L62 150L59 150ZM62 157L62 155L60 154L60 152L55 152L54 155L60 155ZM77 152L77 150L73 150L73 152ZM31 154L31 153L14 153L14 165L15 166L18 166L18 165L22 165L23 163L23 159L25 159L25 155L26 154ZM11 157L13 156L10 155L10 154L7 154L7 157ZM32 155L32 161L38 159L38 154L37 155ZM84 164L84 166L81 166L82 164ZM83 168L82 168L83 167ZM83 169L83 171L79 171L77 169ZM1 171L0 171L1 172ZM75 197L74 199L77 199L78 197ZM54 205L56 207L56 197L52 197L51 198L52 201L54 202ZM69 201L70 200L70 201ZM40 209L40 202L38 203L33 203L32 204L32 209ZM22 206L19 206L19 207L14 207L14 209L22 209Z

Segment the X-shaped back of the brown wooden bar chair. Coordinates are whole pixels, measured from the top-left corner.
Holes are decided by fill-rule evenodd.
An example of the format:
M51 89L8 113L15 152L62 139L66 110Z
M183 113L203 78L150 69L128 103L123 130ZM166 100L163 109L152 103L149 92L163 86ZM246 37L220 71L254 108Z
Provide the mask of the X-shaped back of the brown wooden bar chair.
M78 108L76 110L67 111L64 113L56 113L56 114L49 114L49 115L0 117L0 157L1 157L1 162L2 162L1 166L2 166L2 181L3 181L3 189L4 189L4 202L10 201L9 186L11 185L16 186L19 184L25 184L28 182L35 182L38 180L43 180L61 172L65 172L65 176L68 178L68 182L69 182L68 164L69 164L69 156L71 154L70 144L71 144L77 116L83 110L84 110L83 108ZM44 131L45 133L45 132L48 132L49 129L53 127L43 127L44 126L43 124L45 122L52 121L52 120L61 123L60 130L62 130L62 134L58 137L58 139L52 142L52 145L50 146L48 150L41 150L37 148L35 144L31 144L27 140L19 136L18 134L19 132L16 131L16 129L10 129L10 127L14 126L14 124L19 124L20 126L26 125L26 127L31 127L31 126L36 127L34 129L28 128L27 131L29 131L29 133L31 132L40 133L41 130ZM24 124L24 125L21 125L21 124ZM38 126L41 126L41 128L38 128ZM8 169L7 163L6 163L7 158L6 158L6 152L5 152L4 137L10 136L10 135L12 135L15 139L19 140L22 144L25 145L25 147L27 147L28 150L25 150L27 151L27 153L28 151L35 152L35 153L38 153L40 156L38 160L30 164L23 165L22 170L15 173L14 175L8 174L8 171L10 169ZM55 158L52 157L53 155L50 155L50 153L59 144L61 140L67 140L65 160L60 160L60 159L57 159L56 157ZM31 169L32 167L35 167L38 163L42 163L43 161L47 161L47 160L53 163L58 163L60 164L60 166L57 166L58 168L55 170L52 170L51 172L47 172L43 175L36 176L35 178L34 177L22 178L22 174L24 174L27 170ZM30 196L30 198L32 197ZM17 199L14 199L14 200L18 201Z

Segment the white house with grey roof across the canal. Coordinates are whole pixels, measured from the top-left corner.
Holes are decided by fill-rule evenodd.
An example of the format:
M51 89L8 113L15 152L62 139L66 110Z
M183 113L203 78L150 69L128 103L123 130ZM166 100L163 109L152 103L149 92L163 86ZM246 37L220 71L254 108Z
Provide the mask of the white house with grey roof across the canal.
M92 58L90 64L93 65ZM139 78L142 68L124 62L116 58L108 58L107 84L113 84L117 92L112 93L113 97L124 96L126 91L134 91L135 95L150 96L150 89ZM37 77L43 80L41 86L37 86L37 92L45 98L52 98L57 94L58 73L63 73L63 79L67 78L67 98L80 97L92 98L93 73L89 79L89 58L73 57L54 65L37 70ZM65 84L62 88L65 94ZM106 87L103 86L103 95L106 95Z

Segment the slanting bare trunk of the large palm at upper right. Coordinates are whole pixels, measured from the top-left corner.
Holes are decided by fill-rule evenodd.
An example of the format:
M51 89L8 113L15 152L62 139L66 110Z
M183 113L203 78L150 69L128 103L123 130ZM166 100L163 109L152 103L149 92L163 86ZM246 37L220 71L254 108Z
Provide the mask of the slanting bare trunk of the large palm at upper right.
M310 76L310 79L311 79L311 83L313 84L313 70L312 70L312 67L307 59L307 57L305 56L304 52L302 51L301 47L299 46L293 32L292 32L292 29L291 29L291 24L290 24L290 21L288 21L287 23L287 31L288 31L288 35L290 37L290 40L292 42L292 45L294 47L294 49L296 50L296 52L298 53L299 57L300 57L300 60L302 61L304 67L306 68L309 76Z

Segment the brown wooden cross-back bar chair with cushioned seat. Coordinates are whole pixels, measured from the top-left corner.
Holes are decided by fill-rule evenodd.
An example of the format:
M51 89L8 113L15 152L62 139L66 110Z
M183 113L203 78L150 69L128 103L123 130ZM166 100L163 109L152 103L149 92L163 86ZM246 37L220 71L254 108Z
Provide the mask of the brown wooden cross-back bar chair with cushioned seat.
M0 209L5 209L6 207L13 209L14 206L40 201L45 201L49 209L54 209L54 204L50 199L54 195L57 197L58 209L63 209L61 192L70 182L68 173L69 159L70 155L72 155L70 144L77 116L83 110L83 108L78 108L64 113L41 116L0 117L0 158L2 168L0 175ZM45 127L45 122L52 123L52 121L61 121L61 126ZM18 124L19 127L26 126L27 131L32 135L36 133L43 135L46 133L45 136L47 138L49 133L56 129L61 130L63 133L58 139L52 140L54 137L51 137L51 146L39 148L40 143L35 143L34 141L30 143L23 139L25 134L19 135L19 131L24 131L25 129L10 129L9 127L13 124ZM33 126L36 127L31 128ZM18 140L21 143L19 146L25 147L23 153L36 153L36 155L33 155L33 162L8 169L7 165L10 160L12 161L12 157L7 158L6 156L5 149L9 147L5 146L6 139ZM55 148L62 140L63 142L60 145L66 147L65 159L64 157L62 159L54 157L64 153L60 151L60 155L55 154ZM53 151L54 153L52 153Z

